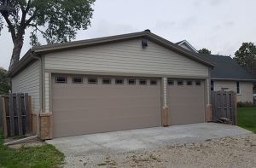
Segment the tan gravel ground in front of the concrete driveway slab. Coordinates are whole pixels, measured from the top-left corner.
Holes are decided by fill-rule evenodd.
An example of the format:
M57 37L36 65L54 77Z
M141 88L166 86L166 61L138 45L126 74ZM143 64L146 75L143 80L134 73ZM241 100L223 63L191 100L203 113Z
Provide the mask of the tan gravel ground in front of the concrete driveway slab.
M69 156L64 167L256 168L256 134L177 144L125 154Z

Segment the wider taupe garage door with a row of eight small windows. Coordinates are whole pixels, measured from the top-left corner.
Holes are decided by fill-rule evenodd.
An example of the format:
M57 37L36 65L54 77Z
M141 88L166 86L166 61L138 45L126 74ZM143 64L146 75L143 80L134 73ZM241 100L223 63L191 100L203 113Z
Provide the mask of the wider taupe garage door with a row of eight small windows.
M53 75L54 137L161 125L160 79Z

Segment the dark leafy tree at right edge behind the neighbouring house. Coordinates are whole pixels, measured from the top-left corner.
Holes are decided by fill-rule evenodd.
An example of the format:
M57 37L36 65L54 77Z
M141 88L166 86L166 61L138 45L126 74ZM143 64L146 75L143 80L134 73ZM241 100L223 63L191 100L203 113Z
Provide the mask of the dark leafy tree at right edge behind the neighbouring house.
M256 78L256 46L251 42L242 43L235 55L234 60ZM254 84L254 90L256 90L256 84Z

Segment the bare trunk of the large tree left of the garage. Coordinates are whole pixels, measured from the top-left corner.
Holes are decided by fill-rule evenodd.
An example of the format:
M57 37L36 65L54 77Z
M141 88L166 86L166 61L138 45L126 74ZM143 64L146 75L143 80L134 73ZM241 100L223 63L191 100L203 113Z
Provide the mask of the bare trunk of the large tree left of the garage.
M15 66L15 64L20 60L20 52L23 47L23 38L16 38L14 41L13 54L9 64L9 71Z

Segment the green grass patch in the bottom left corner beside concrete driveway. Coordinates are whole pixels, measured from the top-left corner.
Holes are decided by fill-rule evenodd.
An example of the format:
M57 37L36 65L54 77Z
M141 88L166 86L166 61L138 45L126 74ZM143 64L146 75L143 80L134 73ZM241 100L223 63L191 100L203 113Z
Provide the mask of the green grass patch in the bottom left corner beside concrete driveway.
M64 154L49 144L43 144L41 147L21 147L20 149L3 146L3 134L0 132L0 167L57 167L63 163L63 160Z

